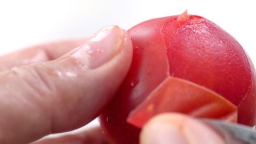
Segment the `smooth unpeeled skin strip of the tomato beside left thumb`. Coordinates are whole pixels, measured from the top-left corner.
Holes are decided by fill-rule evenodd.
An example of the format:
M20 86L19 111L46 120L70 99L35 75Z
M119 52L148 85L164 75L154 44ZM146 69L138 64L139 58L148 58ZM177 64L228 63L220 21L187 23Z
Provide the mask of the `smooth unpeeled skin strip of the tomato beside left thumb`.
M138 143L140 129L127 124L126 118L169 75L165 43L159 34L163 24L174 18L143 22L129 30L134 49L130 71L114 101L100 116L101 126L113 143Z

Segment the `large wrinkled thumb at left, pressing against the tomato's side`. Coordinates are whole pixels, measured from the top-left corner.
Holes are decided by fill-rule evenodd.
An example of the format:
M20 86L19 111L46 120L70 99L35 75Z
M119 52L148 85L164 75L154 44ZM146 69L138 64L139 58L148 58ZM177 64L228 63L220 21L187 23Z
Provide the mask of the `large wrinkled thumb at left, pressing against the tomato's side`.
M121 85L132 43L117 26L57 60L0 73L0 142L26 143L97 117Z

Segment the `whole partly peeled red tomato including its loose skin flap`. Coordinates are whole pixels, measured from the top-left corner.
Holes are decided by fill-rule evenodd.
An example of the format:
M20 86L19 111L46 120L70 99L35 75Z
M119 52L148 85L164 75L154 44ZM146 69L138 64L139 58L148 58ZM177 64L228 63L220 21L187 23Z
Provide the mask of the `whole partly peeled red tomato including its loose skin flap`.
M255 70L226 31L185 12L142 22L128 33L134 49L130 71L100 116L113 143L138 143L138 127L163 111L234 120L237 109L238 123L256 123ZM207 107L214 102L220 108ZM198 107L203 109L196 115L186 111Z

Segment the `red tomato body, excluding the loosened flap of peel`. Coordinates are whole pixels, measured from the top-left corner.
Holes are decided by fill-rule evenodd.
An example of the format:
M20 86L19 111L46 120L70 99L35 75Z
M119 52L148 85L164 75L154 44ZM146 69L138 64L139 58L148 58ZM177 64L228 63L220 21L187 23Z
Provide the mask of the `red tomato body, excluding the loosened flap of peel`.
M100 116L113 143L138 143L140 129L126 118L168 76L221 94L238 106L238 123L256 124L254 68L242 46L226 31L196 15L180 21L175 15L142 22L128 32L134 49L132 65L115 99Z

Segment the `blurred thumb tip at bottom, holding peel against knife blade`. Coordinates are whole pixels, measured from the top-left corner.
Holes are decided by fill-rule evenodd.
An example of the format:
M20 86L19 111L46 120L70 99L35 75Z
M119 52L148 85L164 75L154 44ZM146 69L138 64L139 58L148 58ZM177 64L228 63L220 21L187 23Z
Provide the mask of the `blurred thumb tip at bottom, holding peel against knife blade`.
M140 134L141 144L224 144L205 124L182 114L161 114L151 119Z

